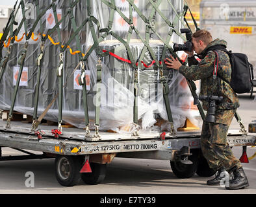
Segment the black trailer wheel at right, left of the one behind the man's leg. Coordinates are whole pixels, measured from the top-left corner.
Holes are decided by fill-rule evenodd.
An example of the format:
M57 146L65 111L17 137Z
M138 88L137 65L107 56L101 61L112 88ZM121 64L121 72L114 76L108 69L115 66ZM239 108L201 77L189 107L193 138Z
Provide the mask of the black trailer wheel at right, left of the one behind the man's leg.
M179 179L188 179L192 177L196 173L196 169L198 169L198 155L192 154L188 157L188 160L192 161L193 164L182 164L181 162L170 162L171 168Z

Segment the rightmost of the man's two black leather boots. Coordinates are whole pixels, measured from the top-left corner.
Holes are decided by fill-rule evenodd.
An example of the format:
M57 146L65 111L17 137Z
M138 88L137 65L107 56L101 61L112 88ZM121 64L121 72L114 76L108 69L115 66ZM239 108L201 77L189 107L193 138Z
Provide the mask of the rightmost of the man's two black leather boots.
M229 181L229 184L226 184L225 189L227 190L238 190L241 188L246 188L249 186L248 179L246 177L246 173L244 173L244 169L235 168L233 169L233 179Z

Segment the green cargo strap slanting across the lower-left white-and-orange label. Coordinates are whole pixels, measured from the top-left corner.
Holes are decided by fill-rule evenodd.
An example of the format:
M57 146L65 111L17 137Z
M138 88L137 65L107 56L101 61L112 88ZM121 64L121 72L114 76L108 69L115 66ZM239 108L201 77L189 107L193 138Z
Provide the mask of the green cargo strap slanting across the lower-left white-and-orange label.
M27 55L27 47L28 47L28 43L25 43L25 47L21 50L21 55L18 58L18 64L19 64L19 73L18 73L18 78L17 78L17 82L14 88L14 94L12 96L12 104L10 106L10 111L8 114L8 120L7 120L7 124L6 124L6 128L10 128L10 119L12 118L12 113L14 110L14 104L16 102L16 97L17 97L17 93L18 93L18 88L19 88L19 82L21 80L21 74L23 71L23 67L24 67L24 61Z

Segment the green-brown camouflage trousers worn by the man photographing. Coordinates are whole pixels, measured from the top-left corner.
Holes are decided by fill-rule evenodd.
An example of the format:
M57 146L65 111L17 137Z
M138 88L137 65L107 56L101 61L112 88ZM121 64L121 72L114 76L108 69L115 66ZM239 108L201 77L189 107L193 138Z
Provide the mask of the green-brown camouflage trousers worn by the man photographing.
M209 167L217 171L222 166L227 171L237 166L242 167L240 160L234 155L227 143L229 125L236 110L228 110L217 113L216 123L203 122L201 132L201 150Z

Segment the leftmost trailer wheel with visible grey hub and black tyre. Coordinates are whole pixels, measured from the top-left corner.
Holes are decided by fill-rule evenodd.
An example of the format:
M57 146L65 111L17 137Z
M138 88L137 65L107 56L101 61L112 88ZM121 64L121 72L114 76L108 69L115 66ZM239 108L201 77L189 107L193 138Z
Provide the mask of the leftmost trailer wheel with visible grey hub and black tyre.
M62 186L75 186L80 180L81 158L78 156L57 156L55 175Z

